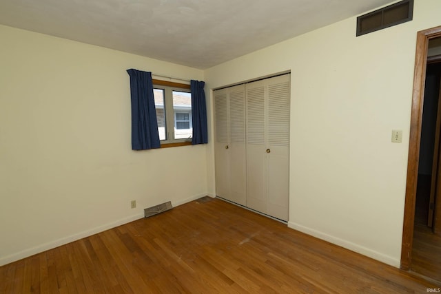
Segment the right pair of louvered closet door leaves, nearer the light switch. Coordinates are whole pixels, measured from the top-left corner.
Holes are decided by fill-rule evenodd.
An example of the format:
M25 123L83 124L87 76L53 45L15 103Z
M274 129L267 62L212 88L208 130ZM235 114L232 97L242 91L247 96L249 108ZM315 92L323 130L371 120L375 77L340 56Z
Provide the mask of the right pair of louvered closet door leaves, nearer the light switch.
M290 75L248 83L247 206L288 220Z

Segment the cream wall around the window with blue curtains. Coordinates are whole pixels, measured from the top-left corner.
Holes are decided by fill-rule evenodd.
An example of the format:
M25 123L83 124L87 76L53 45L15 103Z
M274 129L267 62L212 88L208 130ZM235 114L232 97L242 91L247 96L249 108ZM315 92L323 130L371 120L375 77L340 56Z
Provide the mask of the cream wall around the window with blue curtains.
M132 151L125 72L201 70L3 25L0 39L0 265L206 195L207 146Z

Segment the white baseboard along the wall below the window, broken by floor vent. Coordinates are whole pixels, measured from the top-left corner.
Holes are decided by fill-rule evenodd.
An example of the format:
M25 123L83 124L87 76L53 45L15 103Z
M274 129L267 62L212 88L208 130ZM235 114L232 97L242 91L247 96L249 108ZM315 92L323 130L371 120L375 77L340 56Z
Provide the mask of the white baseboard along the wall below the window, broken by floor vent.
M207 194L204 193L204 194L201 194L198 196L192 196L189 198L185 198L183 200L174 201L174 202L172 202L172 205L173 205L173 207L177 207L177 206L185 204L187 202L191 202L193 200L199 199L203 196L207 196ZM54 249L58 246L68 244L70 242L74 242L74 241L80 240L82 238L89 237L89 236L94 235L96 233L101 233L101 232L106 231L108 229L113 229L114 227L119 227L123 224L127 224L129 222L133 222L134 220L139 220L141 218L144 218L144 211L136 213L132 216L128 216L127 218L122 218L121 220L116 220L115 222L103 224L102 226L95 227L95 228L87 230L87 231L82 231L82 232L76 233L74 235L69 235L67 237L60 238L58 240L53 240L51 242L47 242L47 243L41 244L39 246L32 247L30 249L25 249L23 251L19 251L17 253L11 254L11 255L1 257L0 258L0 266L3 266L5 264L9 264L11 262L16 262L17 260L21 260L23 258L28 258L32 255L41 253L43 251Z

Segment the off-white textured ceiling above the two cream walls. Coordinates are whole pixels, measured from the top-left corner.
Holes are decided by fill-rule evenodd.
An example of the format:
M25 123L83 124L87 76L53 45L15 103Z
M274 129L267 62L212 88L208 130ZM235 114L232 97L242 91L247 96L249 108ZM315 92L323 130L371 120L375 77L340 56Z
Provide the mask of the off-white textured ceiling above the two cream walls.
M0 23L205 69L390 2L0 0Z

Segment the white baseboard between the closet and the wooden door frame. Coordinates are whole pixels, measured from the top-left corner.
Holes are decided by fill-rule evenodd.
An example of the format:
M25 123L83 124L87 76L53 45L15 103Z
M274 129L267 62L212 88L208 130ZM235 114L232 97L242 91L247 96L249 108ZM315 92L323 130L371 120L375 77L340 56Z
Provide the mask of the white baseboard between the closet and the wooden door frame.
M336 244L345 249L349 249L356 253L360 253L362 255L366 255L369 258L373 258L374 260L378 260L385 264L389 264L396 268L400 268L400 260L396 258L392 258L389 255L385 255L383 253L373 251L365 246L361 246L360 244L355 244L353 242L349 242L347 240L340 239L333 235L328 235L327 233L322 233L321 231L317 231L315 229L311 229L309 227L302 226L301 224L296 224L295 222L288 222L288 227L291 229L295 229L296 231L300 231L302 233L306 233L308 235L314 236L316 238L325 240L329 243Z

